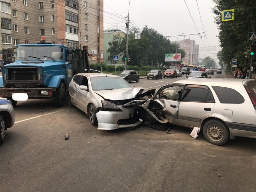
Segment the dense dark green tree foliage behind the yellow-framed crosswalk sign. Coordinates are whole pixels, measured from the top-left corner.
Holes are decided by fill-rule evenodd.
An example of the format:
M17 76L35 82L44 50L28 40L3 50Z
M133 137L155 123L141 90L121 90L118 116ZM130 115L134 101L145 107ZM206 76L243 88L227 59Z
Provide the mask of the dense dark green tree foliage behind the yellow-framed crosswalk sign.
M220 30L219 39L222 47L218 58L228 64L233 57L238 58L238 65L244 66L245 54L250 42L248 32L252 32L253 14L256 13L255 1L252 0L213 0L216 6L213 8L215 13L215 23ZM234 9L233 21L222 21L222 11ZM255 58L254 58L255 62Z

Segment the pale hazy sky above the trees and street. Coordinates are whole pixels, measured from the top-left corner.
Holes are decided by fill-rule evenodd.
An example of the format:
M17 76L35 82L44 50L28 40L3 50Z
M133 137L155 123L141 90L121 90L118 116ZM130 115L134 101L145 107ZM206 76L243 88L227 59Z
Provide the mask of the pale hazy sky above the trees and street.
M199 57L210 56L217 62L216 53L221 48L219 47L219 39L216 37L219 30L214 23L214 14L212 13L212 8L215 4L212 0L186 0L189 11L200 33L204 31L197 2L207 39L201 34L203 40L198 35L189 35L185 38L184 36L179 36L178 40L190 37L200 47L215 46L216 51L200 51ZM125 27L124 17L128 15L128 5L129 0L104 0L104 30L115 26ZM184 0L131 0L129 11L130 24L132 26L137 25L141 30L147 25L148 28L156 29L165 36L178 35L183 32L185 34L198 33L189 11ZM170 37L170 40L176 41L177 37Z

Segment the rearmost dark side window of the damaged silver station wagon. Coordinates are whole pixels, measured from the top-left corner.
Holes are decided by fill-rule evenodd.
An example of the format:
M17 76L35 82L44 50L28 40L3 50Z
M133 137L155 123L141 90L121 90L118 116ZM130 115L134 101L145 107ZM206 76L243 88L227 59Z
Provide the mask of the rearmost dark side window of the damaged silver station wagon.
M245 98L236 90L228 87L212 86L221 103L241 104Z

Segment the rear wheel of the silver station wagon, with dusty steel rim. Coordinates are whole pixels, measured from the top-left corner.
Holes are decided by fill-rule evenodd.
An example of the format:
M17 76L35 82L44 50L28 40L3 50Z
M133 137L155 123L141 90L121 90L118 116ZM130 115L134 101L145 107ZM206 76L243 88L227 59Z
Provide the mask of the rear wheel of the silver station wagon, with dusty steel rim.
M224 145L230 139L229 129L219 120L209 120L203 125L204 138L214 145Z

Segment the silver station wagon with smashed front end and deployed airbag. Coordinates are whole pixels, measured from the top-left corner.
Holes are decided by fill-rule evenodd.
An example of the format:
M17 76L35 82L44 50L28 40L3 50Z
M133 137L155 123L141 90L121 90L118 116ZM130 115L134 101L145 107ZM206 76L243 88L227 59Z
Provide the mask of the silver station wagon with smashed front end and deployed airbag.
M255 79L180 80L156 90L143 107L162 123L200 127L215 145L256 138Z

